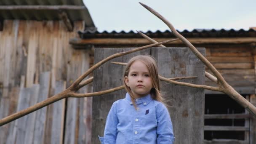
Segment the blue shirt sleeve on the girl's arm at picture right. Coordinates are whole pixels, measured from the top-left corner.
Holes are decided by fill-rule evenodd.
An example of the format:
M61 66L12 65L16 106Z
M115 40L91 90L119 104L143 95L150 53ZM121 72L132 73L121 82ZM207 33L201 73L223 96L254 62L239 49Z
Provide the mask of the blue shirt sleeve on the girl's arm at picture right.
M161 104L157 108L157 144L174 144L173 125L168 109Z

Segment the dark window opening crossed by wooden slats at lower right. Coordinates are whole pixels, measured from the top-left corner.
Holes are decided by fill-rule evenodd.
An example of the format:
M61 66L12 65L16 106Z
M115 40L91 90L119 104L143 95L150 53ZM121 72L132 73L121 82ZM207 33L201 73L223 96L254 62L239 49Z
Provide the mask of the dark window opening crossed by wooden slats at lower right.
M245 97L246 95L242 95ZM241 114L245 109L235 100L224 94L205 95L205 115L207 114ZM205 125L210 126L245 126L245 119L205 119ZM238 139L245 140L245 131L207 131L204 139Z

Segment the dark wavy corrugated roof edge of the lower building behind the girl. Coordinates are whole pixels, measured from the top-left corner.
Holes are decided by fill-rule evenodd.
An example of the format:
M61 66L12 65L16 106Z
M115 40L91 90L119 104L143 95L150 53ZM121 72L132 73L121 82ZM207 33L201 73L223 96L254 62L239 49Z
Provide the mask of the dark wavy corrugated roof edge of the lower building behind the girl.
M178 31L178 30L177 30ZM256 30L235 30L235 29L193 29L192 31L183 30L178 31L184 37L256 37ZM112 32L88 32L88 31L80 31L78 32L81 38L141 38L141 35L137 32L133 32L132 30L129 32L120 31L116 32L113 30ZM143 32L149 37L175 37L170 30L160 31L157 30L155 32L147 31Z

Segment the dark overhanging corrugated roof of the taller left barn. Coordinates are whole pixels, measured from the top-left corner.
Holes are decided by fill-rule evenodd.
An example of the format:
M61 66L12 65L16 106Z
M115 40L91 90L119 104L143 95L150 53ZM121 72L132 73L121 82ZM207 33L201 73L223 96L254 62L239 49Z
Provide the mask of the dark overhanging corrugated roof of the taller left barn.
M83 9L65 10L70 20L85 20L86 27L95 27L88 9L83 0L0 0L0 6L26 6L26 5L74 5L83 6ZM59 10L32 10L12 9L0 10L0 19L24 19L24 20L59 20Z

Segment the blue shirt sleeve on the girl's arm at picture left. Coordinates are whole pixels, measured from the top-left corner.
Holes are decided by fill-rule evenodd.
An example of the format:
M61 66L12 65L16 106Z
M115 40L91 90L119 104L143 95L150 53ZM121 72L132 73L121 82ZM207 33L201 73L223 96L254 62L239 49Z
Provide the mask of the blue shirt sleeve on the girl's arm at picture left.
M117 138L117 101L115 101L107 115L106 125L104 129L104 137L99 137L101 144L115 144Z

